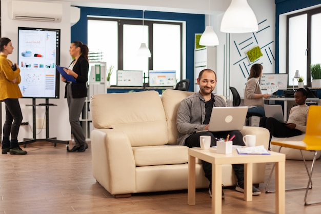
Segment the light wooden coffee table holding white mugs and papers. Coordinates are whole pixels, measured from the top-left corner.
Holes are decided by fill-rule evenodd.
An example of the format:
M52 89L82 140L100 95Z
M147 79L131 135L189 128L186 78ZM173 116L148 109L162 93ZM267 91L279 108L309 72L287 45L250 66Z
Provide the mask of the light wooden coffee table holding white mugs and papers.
M218 154L215 148L188 149L188 205L195 205L195 158L212 164L212 213L222 213L222 165L244 164L244 200L252 201L253 163L275 162L275 213L285 214L285 154L270 151L270 155ZM258 158L259 157L259 158Z

